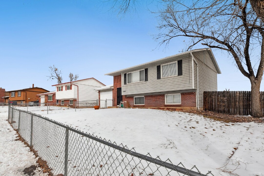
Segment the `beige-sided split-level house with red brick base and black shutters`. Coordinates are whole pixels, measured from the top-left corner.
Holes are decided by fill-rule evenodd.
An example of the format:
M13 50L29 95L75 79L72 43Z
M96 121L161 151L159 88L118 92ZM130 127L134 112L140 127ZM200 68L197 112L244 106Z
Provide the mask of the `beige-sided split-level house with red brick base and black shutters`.
M203 106L203 92L217 90L221 71L210 48L195 49L125 68L105 75L114 77L114 106ZM179 107L175 107L179 106Z

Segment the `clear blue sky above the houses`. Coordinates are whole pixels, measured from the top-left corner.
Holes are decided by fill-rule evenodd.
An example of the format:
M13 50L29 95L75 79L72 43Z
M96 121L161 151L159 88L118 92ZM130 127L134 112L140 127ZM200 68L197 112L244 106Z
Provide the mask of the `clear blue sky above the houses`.
M105 73L179 53L183 39L172 40L168 48L153 39L157 18L146 7L120 18L109 11L111 3L102 1L2 1L0 87L8 91L35 84L54 91L56 81L46 77L52 65L62 71L63 82L72 72L79 79L94 77L109 85L113 77ZM233 58L213 52L222 72L218 90L250 90Z

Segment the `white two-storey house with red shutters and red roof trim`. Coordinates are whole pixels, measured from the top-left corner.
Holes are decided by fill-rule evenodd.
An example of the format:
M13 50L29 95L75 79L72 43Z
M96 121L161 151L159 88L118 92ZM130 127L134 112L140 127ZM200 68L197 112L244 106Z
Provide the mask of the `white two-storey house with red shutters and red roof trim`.
M95 89L105 85L95 78L87 78L52 86L56 86L56 101L58 104L73 105L76 101L97 100L99 97Z

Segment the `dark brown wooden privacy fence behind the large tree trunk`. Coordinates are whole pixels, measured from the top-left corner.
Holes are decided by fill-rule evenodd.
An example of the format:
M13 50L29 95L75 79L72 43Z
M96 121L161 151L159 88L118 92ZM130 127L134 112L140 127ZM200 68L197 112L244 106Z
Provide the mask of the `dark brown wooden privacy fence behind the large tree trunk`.
M263 114L263 92L260 92L260 105ZM250 91L204 91L204 110L229 115L250 115Z

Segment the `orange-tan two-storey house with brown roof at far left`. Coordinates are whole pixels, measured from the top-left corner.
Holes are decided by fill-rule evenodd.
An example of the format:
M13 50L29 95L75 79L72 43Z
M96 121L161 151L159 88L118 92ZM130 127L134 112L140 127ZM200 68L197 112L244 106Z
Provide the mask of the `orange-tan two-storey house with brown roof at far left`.
M34 84L32 84L31 88L11 90L6 92L9 93L10 101L17 101L18 104L23 104L38 100L39 98L36 95L48 92L48 90L40 87L34 87Z

